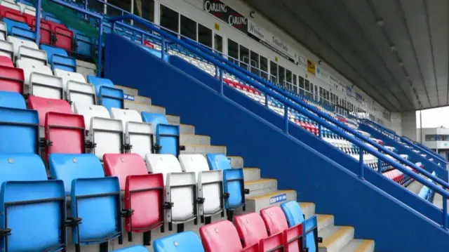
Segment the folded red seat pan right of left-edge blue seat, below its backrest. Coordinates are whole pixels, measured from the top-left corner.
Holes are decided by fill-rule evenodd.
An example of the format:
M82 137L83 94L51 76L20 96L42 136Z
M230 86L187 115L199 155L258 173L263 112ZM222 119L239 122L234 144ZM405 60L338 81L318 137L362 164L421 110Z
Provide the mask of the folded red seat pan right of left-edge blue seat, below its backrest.
M46 147L47 158L52 153L86 153L84 117L81 114L48 112L45 118L45 139L52 142L51 146Z

